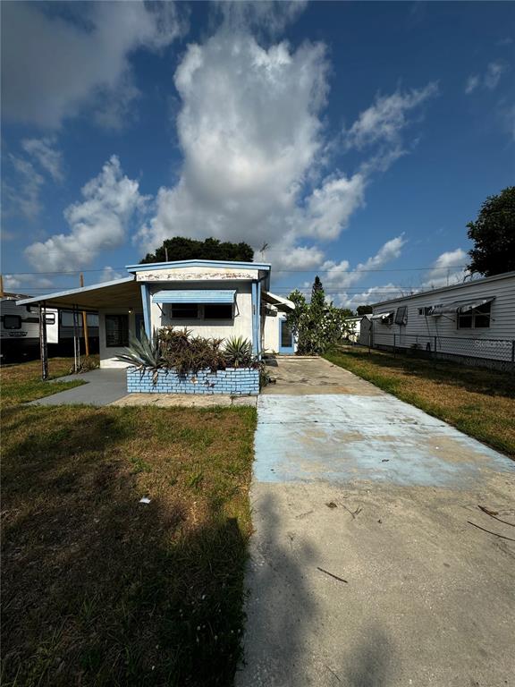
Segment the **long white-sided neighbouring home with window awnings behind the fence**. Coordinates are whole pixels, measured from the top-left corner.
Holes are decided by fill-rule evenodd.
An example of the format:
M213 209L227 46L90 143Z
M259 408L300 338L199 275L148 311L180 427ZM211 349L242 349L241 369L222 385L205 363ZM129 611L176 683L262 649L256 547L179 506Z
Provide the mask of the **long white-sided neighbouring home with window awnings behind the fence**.
M376 348L418 349L510 368L515 361L515 272L375 303L371 320Z

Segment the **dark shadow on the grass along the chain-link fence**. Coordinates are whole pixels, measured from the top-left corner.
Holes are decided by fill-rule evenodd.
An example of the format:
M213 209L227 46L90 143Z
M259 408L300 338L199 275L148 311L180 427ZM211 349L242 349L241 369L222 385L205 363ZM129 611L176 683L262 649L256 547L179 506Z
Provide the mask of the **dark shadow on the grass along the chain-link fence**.
M459 365L449 360L432 360L426 357L399 353L393 357L390 353L365 349L333 351L326 356L328 360L338 358L372 366L377 372L401 372L409 377L418 377L449 386L462 388L471 393L492 396L515 397L515 377L494 369L472 368ZM401 380L391 380L393 386Z

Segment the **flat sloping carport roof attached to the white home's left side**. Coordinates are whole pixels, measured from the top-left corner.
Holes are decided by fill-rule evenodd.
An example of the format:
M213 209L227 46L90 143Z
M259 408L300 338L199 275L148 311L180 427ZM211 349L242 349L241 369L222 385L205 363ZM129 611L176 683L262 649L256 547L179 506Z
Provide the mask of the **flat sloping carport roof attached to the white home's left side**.
M18 305L45 302L48 307L63 308L77 306L84 310L106 308L135 308L141 305L140 284L135 276L126 276L113 282L83 286L70 291L46 293L35 298L24 298Z

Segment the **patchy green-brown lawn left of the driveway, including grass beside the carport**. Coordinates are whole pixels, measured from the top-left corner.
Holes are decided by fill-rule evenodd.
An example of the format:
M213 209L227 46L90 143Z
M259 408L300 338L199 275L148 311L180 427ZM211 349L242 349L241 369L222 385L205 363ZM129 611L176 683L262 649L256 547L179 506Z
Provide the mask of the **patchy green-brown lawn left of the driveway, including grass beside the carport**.
M231 685L255 409L14 404L37 374L2 370L1 683Z

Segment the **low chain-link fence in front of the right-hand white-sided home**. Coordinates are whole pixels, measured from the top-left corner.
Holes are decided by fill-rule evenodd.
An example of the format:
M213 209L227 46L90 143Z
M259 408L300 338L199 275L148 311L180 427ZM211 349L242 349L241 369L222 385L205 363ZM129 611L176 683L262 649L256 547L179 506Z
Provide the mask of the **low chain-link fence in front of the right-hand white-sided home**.
M460 359L472 364L499 362L502 368L515 365L515 340L372 332L373 348L385 348L431 358ZM497 367L493 364L492 367Z

